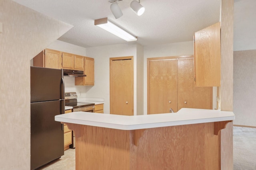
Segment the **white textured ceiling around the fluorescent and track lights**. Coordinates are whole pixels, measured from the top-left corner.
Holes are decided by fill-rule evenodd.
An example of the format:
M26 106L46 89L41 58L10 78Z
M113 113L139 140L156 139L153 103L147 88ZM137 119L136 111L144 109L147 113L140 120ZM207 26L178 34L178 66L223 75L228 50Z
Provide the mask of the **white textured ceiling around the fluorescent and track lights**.
M137 36L137 43L141 45L192 41L194 32L220 20L220 0L141 0L140 4L145 7L145 12L142 16L137 16L130 9L130 2L132 0L121 0L118 5L124 15L118 19L115 19L112 15L108 0L14 1L47 16L74 25L70 31L58 40L81 47L133 43L126 42L100 27L96 27L94 20L100 18L107 17L113 23ZM234 1L234 9L240 10L240 13L244 12L242 11L244 8L246 10L252 8L252 6L255 8L256 4L256 0ZM236 3L239 5L236 6ZM249 3L253 3L253 5L248 5ZM248 13L249 16L251 14ZM238 16L234 15L235 24L238 23L236 20L245 22L247 19L237 18ZM234 33L240 33L241 31L242 27L234 26ZM239 39L239 41L244 41L244 38L234 35L234 39Z

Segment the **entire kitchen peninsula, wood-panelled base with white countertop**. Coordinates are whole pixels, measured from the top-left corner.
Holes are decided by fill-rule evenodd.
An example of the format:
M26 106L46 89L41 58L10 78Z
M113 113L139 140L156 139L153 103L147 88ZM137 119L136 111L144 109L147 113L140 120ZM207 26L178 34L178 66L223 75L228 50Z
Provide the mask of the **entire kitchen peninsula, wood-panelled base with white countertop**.
M232 111L56 115L76 133L76 170L220 170L220 133ZM232 145L232 143L230 143Z

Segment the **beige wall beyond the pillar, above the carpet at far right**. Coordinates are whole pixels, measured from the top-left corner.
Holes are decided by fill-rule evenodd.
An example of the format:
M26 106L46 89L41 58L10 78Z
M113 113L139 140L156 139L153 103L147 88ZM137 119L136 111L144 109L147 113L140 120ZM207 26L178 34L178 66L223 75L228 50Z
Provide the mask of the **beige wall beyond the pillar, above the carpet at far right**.
M256 50L234 51L234 125L256 127Z

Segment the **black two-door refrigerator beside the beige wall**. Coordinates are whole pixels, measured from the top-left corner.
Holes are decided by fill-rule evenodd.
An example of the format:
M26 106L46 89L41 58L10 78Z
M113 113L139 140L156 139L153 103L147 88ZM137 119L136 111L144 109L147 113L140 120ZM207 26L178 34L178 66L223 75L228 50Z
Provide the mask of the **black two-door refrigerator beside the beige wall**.
M30 67L30 169L64 155L64 129L55 115L65 112L62 69Z

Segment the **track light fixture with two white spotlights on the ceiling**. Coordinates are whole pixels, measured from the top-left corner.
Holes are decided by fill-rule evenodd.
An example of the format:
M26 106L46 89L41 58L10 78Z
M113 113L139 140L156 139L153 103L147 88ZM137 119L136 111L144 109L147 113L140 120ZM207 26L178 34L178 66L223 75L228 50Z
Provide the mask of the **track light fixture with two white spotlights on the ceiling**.
M108 0L109 3L112 3L110 5L110 10L116 19L123 16L123 13L120 7L118 6L118 1L121 0ZM145 8L140 4L140 0L133 0L130 4L130 7L138 16L141 16L145 11Z

